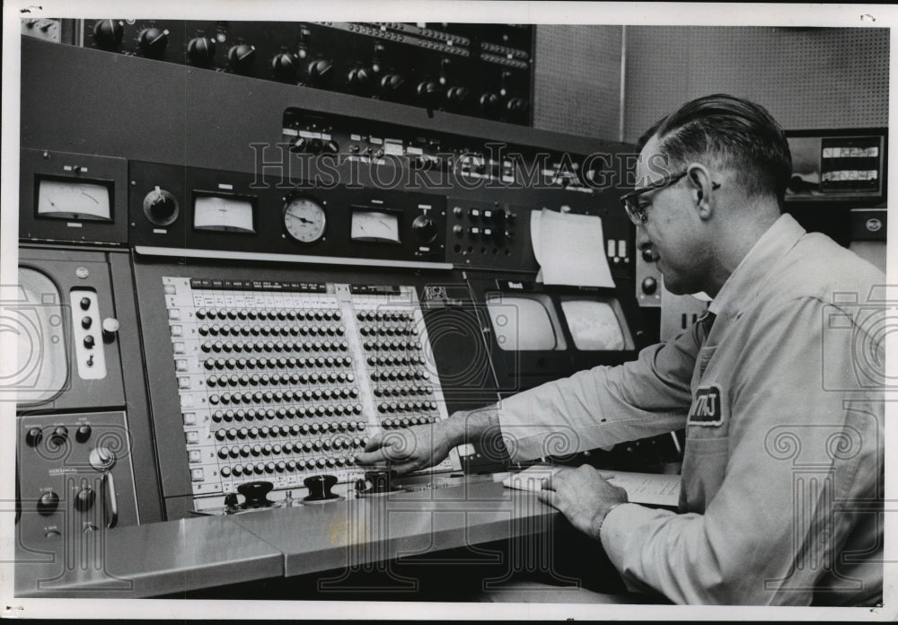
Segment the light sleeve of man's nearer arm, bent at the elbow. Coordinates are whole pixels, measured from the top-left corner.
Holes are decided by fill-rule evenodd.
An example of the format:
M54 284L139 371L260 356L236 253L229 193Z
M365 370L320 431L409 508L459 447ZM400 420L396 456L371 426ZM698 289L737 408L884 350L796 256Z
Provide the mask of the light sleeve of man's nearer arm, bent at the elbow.
M733 364L743 382L727 390L728 437L716 439L726 474L703 515L625 504L605 516L603 547L629 585L676 603L806 604L838 568L858 514L839 502L876 497L882 406L823 388L826 332L825 356L844 359L836 386L858 390L852 332L823 321L809 299L754 321L763 330ZM865 408L847 408L848 397Z

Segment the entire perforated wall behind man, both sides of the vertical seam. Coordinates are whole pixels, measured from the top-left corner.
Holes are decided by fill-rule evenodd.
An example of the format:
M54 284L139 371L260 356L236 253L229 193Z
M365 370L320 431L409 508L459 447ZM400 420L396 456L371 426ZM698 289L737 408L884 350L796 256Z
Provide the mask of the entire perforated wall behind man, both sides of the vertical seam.
M620 138L623 31L537 27L534 127ZM887 126L888 77L888 29L628 26L623 139L713 92L761 102L784 128Z

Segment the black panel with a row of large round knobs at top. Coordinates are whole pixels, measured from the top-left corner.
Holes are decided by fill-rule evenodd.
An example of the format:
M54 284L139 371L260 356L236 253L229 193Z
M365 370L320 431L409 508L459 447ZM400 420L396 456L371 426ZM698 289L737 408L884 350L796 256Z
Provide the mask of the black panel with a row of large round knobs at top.
M533 26L85 20L84 45L427 110L529 124Z

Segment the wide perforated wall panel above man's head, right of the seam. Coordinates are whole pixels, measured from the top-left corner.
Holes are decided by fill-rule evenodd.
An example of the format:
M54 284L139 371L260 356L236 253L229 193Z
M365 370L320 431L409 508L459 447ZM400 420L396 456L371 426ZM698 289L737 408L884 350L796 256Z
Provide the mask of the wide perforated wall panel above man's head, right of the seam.
M888 78L887 29L628 27L625 140L715 92L758 101L783 128L887 126Z

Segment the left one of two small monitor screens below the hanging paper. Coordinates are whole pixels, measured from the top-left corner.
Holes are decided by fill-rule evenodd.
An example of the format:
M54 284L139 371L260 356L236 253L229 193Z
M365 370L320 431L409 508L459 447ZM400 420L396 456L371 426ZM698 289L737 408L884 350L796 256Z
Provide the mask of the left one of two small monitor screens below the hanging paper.
M549 351L564 349L552 323L551 300L546 295L487 294L489 321L500 349Z

